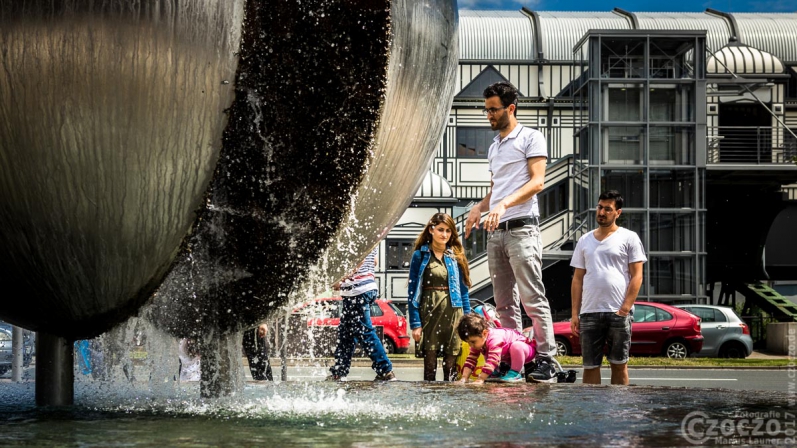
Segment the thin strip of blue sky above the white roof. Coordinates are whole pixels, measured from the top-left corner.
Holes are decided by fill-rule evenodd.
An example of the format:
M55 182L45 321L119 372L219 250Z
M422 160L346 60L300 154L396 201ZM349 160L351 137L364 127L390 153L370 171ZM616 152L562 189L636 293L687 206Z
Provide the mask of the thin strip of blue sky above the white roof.
M457 0L460 9L536 11L703 12L797 12L797 0Z

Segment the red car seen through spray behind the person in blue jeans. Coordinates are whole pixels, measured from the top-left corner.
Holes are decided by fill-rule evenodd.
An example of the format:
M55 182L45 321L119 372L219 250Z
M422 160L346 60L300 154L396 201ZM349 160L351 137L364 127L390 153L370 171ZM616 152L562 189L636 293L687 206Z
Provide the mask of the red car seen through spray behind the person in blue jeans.
M307 315L308 326L337 327L340 325L341 300L341 297L315 299L294 308L293 313ZM377 299L371 304L371 323L382 327L386 352L407 353L410 347L407 318L390 300Z

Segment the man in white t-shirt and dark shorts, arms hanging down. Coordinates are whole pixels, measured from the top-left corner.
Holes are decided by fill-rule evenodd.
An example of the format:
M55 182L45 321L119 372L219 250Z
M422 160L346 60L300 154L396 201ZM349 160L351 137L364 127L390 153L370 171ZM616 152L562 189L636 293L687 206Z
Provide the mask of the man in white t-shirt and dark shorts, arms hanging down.
M598 198L598 228L579 238L570 266L575 268L570 295L570 329L581 337L584 384L600 384L604 347L612 384L628 384L628 352L634 301L647 261L636 232L617 225L623 197L609 190Z

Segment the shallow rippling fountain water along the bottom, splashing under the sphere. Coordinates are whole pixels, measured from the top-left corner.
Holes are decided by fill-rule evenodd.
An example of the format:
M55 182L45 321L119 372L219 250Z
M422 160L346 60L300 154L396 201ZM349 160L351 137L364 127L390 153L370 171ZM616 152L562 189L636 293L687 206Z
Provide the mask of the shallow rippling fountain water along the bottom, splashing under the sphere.
M779 430L763 436L783 443L793 435L788 397L774 392L281 382L250 383L228 399L198 395L196 384L168 394L80 387L74 407L40 409L32 383L2 384L0 446L689 446L706 433L694 426L684 437L695 411L734 422L777 412Z

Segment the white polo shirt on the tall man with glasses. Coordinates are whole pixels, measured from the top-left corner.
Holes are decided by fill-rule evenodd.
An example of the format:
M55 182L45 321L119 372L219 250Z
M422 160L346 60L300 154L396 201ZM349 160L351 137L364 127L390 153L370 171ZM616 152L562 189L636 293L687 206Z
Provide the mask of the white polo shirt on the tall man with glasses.
M500 134L495 136L487 153L490 172L493 174L490 210L531 180L528 159L532 157L548 158L542 132L518 123L503 140ZM536 194L528 201L508 208L501 222L526 216L540 216Z

